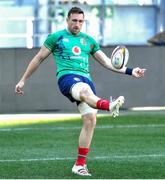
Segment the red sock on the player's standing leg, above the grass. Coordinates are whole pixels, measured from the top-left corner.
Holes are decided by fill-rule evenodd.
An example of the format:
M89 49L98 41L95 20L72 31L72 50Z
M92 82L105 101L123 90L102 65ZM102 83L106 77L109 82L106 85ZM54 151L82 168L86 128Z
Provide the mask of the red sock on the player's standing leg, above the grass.
M78 148L78 157L76 161L76 165L81 165L83 166L86 164L86 157L88 155L89 148Z

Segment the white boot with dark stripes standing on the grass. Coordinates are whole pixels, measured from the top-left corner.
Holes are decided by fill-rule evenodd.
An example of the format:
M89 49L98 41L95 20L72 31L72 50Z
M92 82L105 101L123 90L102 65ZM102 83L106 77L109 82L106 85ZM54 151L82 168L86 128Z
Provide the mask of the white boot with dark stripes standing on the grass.
M84 166L74 165L72 168L72 172L80 176L91 176L91 174L88 172L86 164Z

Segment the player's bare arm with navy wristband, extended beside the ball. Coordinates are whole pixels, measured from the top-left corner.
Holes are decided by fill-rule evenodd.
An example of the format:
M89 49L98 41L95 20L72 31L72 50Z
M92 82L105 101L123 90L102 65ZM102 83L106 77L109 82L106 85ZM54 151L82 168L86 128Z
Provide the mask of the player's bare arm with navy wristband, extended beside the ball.
M140 78L144 76L144 73L146 71L146 69L141 69L139 67L128 68L126 66L121 69L116 69L113 67L111 59L102 50L96 51L93 56L103 67L117 73L128 74L132 75L133 77Z

